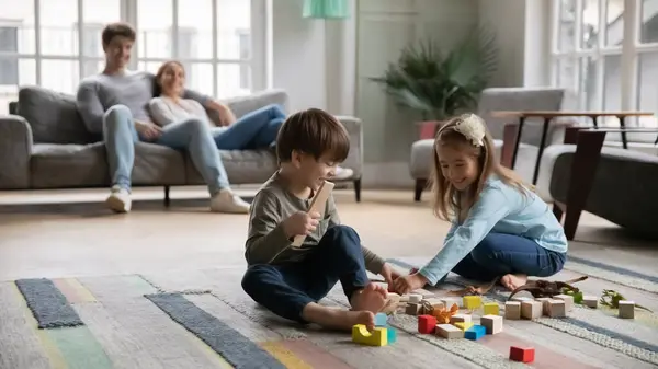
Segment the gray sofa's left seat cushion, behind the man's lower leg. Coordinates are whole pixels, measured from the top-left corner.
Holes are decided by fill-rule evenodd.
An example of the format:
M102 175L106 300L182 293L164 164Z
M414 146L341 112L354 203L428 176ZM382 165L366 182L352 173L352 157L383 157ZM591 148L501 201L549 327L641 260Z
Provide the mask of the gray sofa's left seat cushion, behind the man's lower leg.
M182 185L185 169L181 152L152 143L135 145L133 185ZM34 146L31 158L33 188L109 187L111 185L105 146Z

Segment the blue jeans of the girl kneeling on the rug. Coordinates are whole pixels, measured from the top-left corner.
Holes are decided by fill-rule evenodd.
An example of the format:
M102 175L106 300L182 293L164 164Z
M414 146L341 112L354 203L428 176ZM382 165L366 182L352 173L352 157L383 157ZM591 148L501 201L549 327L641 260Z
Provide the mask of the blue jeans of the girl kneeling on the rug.
M524 237L489 233L452 272L483 281L506 274L549 277L563 269L566 260L566 254L546 250Z

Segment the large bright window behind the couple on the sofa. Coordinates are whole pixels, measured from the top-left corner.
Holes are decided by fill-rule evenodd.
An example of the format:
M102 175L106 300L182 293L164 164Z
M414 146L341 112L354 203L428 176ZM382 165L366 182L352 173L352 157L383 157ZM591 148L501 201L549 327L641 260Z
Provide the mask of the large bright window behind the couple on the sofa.
M20 85L73 94L82 78L102 70L101 32L116 21L137 25L132 68L155 72L175 58L192 89L217 97L250 93L251 3L260 1L0 0L0 114Z

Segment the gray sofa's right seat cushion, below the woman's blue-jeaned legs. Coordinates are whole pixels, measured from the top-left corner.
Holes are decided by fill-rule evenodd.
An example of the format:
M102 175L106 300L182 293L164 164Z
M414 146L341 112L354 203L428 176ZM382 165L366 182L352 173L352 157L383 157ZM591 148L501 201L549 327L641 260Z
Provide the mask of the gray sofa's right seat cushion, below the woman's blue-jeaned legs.
M188 183L205 184L203 177L185 155ZM270 150L219 150L219 157L231 184L254 184L268 181L276 171L276 157Z

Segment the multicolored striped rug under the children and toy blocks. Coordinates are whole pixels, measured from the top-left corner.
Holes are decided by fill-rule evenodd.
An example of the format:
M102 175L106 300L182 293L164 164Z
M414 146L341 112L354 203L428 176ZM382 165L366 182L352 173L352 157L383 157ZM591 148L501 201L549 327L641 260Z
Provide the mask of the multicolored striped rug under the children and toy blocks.
M406 269L426 260L390 262ZM653 276L570 263L555 279L586 272L590 278L578 285L586 293L615 289L658 311ZM565 319L504 321L502 333L475 342L418 334L416 318L396 314L397 342L368 347L349 333L277 319L242 292L242 273L0 282L0 368L658 368L655 313L622 320L610 309L577 307ZM485 300L504 298L495 291ZM322 302L347 305L339 287ZM535 361L510 361L510 346L534 347Z

